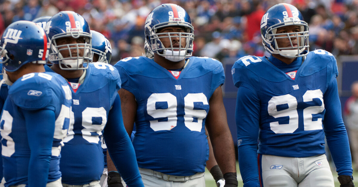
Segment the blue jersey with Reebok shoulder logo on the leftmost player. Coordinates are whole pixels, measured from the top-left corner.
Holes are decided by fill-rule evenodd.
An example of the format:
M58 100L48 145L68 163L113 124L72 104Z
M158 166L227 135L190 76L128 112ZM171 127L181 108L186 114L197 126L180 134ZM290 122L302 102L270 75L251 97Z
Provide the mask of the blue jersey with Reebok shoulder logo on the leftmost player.
M60 151L69 127L72 102L68 83L55 73L29 73L16 80L8 94L0 122L5 186L28 184L31 151L25 124L28 119L24 118L24 110L54 111L55 124L48 125L54 125L55 131L46 132L53 134L47 182L58 180L61 177Z

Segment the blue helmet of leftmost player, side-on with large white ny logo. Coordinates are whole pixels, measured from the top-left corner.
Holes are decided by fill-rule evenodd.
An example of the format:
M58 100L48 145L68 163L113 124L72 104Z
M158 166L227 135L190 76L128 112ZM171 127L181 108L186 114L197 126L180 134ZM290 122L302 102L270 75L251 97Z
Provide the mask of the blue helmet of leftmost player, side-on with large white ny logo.
M0 42L1 63L14 72L26 63L45 64L49 38L42 27L31 21L16 21L6 27Z

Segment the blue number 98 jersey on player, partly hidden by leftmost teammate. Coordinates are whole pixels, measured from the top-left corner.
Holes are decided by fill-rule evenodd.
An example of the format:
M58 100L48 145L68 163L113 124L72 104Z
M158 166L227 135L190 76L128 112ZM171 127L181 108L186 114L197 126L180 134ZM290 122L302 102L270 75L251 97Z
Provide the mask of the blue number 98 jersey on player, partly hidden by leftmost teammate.
M71 89L71 124L61 151L62 183L84 185L100 180L104 168L100 136L120 86L117 69L100 62L88 64L83 83L72 86L77 91Z

